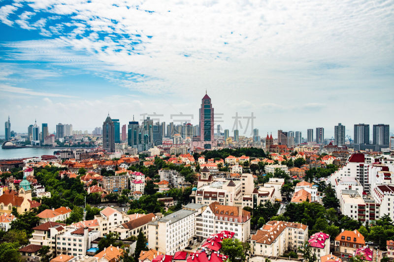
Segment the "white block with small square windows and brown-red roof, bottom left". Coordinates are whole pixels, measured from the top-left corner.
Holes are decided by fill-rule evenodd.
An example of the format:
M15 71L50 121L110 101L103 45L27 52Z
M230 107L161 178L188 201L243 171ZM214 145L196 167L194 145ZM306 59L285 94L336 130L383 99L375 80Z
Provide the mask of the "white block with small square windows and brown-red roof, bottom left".
M86 255L86 250L92 247L92 241L99 237L99 231L89 228L70 229L56 236L56 254L74 257Z

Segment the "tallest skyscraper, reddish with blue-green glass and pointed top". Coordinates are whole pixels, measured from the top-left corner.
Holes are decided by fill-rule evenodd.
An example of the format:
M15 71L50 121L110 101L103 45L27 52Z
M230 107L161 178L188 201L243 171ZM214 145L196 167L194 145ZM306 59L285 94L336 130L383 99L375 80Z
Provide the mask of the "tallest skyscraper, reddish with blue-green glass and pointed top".
M200 141L203 142L204 148L212 148L212 142L214 140L213 127L213 107L211 98L206 94L201 99L201 108L199 109L199 123L200 123Z

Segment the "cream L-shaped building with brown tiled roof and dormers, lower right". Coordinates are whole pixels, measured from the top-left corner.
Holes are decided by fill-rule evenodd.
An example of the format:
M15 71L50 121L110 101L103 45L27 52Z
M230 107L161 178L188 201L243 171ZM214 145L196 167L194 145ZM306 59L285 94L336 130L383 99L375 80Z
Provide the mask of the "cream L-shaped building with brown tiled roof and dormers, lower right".
M286 251L298 253L308 240L308 226L284 221L269 221L250 239L252 254L282 256Z

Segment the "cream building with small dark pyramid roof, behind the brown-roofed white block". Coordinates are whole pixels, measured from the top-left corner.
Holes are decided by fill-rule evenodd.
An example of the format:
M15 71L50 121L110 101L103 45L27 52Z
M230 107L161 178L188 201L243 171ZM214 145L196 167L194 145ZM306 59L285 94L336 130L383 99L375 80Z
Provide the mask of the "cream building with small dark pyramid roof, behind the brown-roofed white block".
M242 182L240 180L215 181L197 189L197 204L208 205L213 202L242 205Z

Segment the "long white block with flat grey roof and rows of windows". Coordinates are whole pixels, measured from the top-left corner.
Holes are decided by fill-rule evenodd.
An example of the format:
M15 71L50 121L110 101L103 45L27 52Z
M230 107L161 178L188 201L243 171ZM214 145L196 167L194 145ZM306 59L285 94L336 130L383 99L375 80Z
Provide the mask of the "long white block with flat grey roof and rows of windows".
M196 210L181 209L148 224L149 249L173 255L193 242Z

